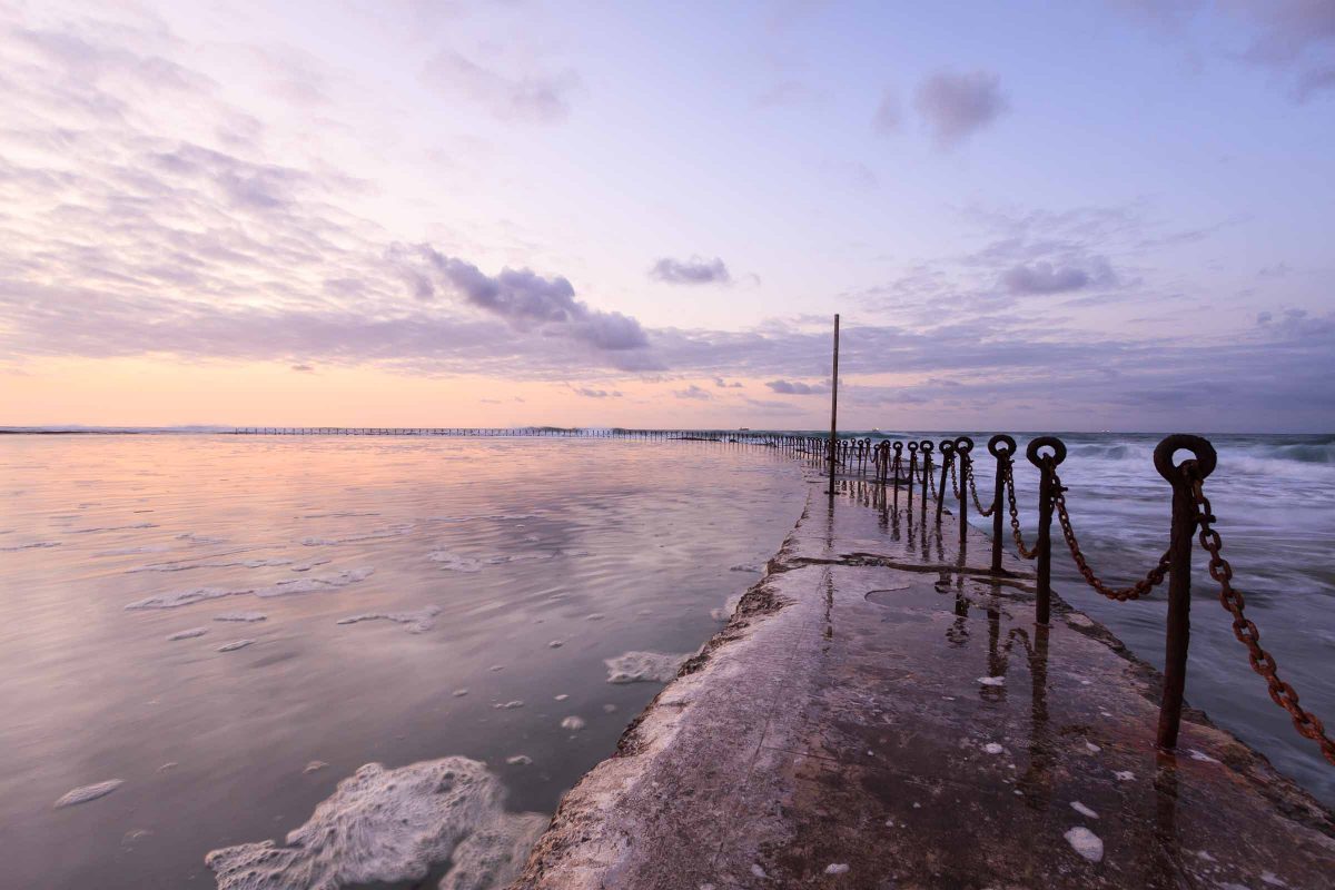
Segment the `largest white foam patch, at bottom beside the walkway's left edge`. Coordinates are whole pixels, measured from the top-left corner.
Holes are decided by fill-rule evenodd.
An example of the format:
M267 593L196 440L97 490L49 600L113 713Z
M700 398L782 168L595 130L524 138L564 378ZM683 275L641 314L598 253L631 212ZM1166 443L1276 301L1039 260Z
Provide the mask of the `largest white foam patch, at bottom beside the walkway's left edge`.
M499 890L547 825L502 810L486 766L462 757L396 770L367 763L339 782L286 846L272 841L210 853L219 890L288 890L421 881L449 861L442 890Z

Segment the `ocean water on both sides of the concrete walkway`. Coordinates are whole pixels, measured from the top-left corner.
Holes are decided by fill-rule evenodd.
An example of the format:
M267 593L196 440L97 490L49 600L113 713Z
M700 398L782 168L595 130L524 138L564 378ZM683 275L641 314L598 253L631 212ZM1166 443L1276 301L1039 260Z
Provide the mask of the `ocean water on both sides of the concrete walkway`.
M1095 571L1143 576L1168 531L1157 436L1063 438ZM1335 722L1335 436L1210 438L1248 615ZM1017 467L1029 540L1036 479ZM228 869L235 887L371 886L355 878L375 850L312 838L442 775L450 842L522 847L721 627L808 492L769 448L578 438L13 435L0 480L0 855L15 886L111 889ZM1195 559L1188 702L1335 803ZM1163 588L1111 602L1064 550L1053 566L1059 595L1161 666ZM295 858L256 846L308 819ZM246 883L255 867L274 883ZM374 886L445 877L422 867Z

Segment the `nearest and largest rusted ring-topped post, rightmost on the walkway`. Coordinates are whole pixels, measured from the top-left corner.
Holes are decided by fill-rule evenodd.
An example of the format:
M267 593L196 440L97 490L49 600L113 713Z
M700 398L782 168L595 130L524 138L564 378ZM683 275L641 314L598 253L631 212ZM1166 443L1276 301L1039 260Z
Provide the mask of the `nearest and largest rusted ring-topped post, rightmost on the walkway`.
M1181 697L1187 687L1187 647L1191 643L1191 548L1196 531L1196 503L1191 479L1173 464L1179 450L1195 455L1197 475L1215 468L1215 448L1200 436L1171 435L1155 447L1155 470L1172 486L1172 530L1168 534L1168 626L1164 640L1164 694L1159 705L1161 749L1177 746Z

